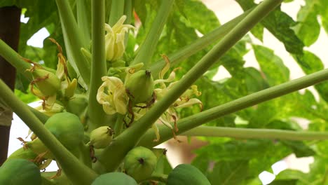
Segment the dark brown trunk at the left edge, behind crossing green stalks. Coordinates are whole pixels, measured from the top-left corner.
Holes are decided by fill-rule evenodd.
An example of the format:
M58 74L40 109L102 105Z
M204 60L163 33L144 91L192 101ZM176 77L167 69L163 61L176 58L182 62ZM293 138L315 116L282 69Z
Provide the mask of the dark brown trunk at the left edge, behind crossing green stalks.
M0 8L0 39L16 51L20 39L20 12L20 8L15 6ZM0 78L12 90L15 88L15 76L15 68L3 57L0 57ZM8 115L11 116L10 119L6 118ZM4 111L3 107L0 107L0 165L4 163L8 155L12 116L12 111Z

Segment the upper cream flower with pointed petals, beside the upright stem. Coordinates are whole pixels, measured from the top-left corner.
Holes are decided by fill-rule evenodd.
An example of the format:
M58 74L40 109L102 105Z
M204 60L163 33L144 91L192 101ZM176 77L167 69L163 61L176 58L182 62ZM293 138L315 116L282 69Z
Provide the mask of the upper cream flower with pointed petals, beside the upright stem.
M106 60L117 60L122 57L125 51L125 33L130 28L135 28L132 25L123 25L125 19L126 15L123 15L113 27L105 24L105 31L107 32L105 35Z

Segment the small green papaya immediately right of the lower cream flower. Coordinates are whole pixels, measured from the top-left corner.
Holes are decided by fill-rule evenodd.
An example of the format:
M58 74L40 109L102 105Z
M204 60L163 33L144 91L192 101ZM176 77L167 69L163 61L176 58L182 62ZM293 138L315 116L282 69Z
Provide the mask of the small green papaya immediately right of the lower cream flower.
M125 89L135 104L149 102L153 95L153 76L151 71L140 70L131 74L125 81Z

